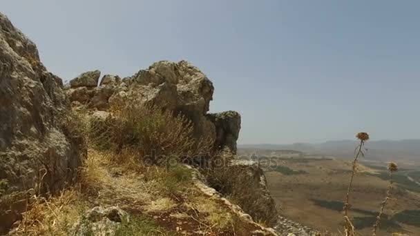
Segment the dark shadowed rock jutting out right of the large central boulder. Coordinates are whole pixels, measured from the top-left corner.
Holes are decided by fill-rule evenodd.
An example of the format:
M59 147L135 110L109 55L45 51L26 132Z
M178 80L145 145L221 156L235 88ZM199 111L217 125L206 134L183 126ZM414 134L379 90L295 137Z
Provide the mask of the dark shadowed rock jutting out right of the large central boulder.
M216 126L216 147L236 154L236 140L239 137L240 115L235 111L209 114L208 117Z

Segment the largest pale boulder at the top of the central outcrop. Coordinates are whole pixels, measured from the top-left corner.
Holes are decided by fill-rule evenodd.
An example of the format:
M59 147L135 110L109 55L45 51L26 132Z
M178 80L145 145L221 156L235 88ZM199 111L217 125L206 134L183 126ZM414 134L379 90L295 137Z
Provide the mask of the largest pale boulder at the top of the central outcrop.
M216 128L205 116L213 99L213 83L187 61L153 63L131 79L124 79L124 84L111 96L110 103L135 97L140 106L148 104L182 113L193 122L196 137L216 138Z

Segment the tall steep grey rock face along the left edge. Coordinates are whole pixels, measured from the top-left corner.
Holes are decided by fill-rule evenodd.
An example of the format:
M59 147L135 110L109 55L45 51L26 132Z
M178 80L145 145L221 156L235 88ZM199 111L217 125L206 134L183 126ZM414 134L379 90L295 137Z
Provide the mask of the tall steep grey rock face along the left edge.
M59 190L82 162L86 149L65 126L69 107L62 87L35 43L0 13L0 180L8 183L0 194L0 231L25 210L27 190Z

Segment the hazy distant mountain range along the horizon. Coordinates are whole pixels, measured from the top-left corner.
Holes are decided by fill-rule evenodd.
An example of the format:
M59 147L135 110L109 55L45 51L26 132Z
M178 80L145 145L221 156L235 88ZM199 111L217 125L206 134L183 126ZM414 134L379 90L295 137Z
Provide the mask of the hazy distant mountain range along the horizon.
M296 150L307 154L332 155L345 159L354 156L358 141L327 141L322 144L240 144L238 148L257 148L262 150ZM367 141L365 159L378 161L420 161L420 139L403 139L399 141Z

